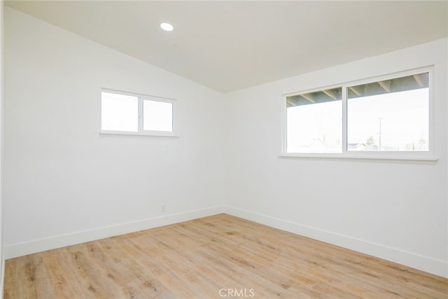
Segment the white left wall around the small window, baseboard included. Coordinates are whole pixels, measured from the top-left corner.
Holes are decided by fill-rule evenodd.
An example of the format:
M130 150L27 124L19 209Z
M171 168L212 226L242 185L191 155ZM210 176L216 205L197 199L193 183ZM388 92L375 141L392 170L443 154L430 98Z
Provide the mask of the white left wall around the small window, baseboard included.
M12 8L5 18L7 257L216 214L223 95ZM177 99L181 137L100 135L101 88Z

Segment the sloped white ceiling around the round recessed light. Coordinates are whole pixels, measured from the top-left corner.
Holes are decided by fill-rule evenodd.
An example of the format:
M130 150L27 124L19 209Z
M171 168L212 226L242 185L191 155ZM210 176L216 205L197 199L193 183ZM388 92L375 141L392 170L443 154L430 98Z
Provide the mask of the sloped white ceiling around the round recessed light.
M448 36L448 1L6 1L221 92ZM160 29L174 25L173 32Z

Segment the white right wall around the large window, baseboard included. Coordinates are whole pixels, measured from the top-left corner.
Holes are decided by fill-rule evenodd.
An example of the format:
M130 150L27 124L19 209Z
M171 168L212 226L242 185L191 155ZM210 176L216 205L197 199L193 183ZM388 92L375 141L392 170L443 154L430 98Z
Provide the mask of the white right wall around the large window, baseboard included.
M281 95L435 64L436 165L279 158ZM228 95L228 211L448 276L447 39Z

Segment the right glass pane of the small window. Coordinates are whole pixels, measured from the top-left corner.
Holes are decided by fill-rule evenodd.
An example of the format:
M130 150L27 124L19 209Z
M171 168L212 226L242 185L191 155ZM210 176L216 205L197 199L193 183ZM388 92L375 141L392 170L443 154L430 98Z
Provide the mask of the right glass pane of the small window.
M173 104L144 100L143 130L173 131Z

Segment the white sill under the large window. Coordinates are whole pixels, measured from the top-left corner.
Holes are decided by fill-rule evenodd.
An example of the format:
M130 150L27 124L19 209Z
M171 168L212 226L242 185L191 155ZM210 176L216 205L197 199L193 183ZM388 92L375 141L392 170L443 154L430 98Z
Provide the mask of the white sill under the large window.
M403 164L427 164L435 165L437 158L426 157L400 157L400 156L354 156L342 154L300 154L300 153L282 153L280 158L298 158L304 160L336 160L336 161L356 161L356 162L380 162L380 163L403 163Z

